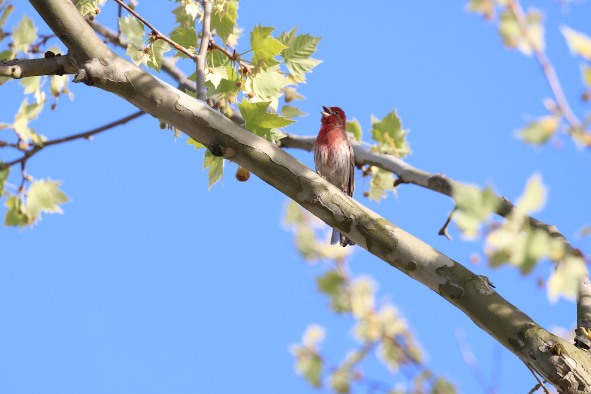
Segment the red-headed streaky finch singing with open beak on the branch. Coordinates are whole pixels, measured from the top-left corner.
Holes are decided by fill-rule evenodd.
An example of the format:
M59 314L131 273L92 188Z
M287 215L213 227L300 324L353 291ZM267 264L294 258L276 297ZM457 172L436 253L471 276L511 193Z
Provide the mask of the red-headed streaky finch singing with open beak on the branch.
M353 197L355 190L355 159L353 147L345 134L345 112L339 107L325 107L322 126L314 144L314 164L321 177ZM352 240L333 229L330 245L355 245Z

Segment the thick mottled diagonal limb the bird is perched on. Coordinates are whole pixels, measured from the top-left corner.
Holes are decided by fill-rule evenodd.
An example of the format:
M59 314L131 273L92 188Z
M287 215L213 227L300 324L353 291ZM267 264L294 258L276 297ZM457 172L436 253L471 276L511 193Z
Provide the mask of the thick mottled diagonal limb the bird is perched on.
M89 42L89 35L94 32L70 2L30 1L58 37L61 26L77 27L65 42L70 51L85 53L83 47L95 43ZM232 159L258 175L361 248L436 291L561 392L591 392L587 353L535 324L502 298L486 278L345 196L284 150L139 69L98 41L98 48L86 51L103 56L81 59L85 70L83 82L115 93L187 133L212 153Z

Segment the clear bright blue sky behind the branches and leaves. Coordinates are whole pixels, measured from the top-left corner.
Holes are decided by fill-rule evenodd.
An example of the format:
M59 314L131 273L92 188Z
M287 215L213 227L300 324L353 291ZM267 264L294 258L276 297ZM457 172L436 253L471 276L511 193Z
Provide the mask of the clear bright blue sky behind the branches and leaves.
M138 11L170 30L168 2L146 10L148 3ZM589 252L589 239L574 237L591 224L589 152L567 138L560 138L560 149L532 148L515 138L515 130L545 115L541 101L551 93L543 73L534 58L505 50L494 25L454 3L378 1L360 8L352 1L269 6L245 0L238 22L247 34L260 22L277 34L299 25L300 32L323 36L314 56L323 63L298 87L307 97L301 110L311 115L287 132L312 135L321 106L340 106L361 122L369 141L371 114L382 118L396 108L411 129L410 164L492 184L510 199L538 172L550 192L537 217ZM569 53L558 26L591 33L591 5L541 5L548 56L581 114L589 105L579 100L580 60ZM27 2L15 6L7 28L26 12L40 33L48 32ZM115 10L108 2L97 20L115 27ZM239 49L248 49L248 37ZM183 67L189 71L191 64ZM10 82L0 89L0 122L11 122L22 87ZM74 102L62 97L57 110L47 108L32 123L37 132L57 138L135 111L102 90L83 84L70 89ZM33 230L0 229L0 392L315 392L293 372L288 346L310 323L327 328L322 349L333 362L355 346L352 319L328 312L326 298L316 292L314 277L323 263L306 265L282 227L287 197L256 176L236 182L235 165L208 193L201 154L185 142L174 142L170 131L144 116L93 142L48 148L28 162L35 177L62 180L72 201L63 215L46 214ZM290 153L313 167L310 153ZM18 183L14 172L9 179ZM401 185L397 198L378 205L363 199L362 182L356 197L371 209L489 276L499 294L543 327L574 328L574 304L549 304L537 287L550 265L542 263L526 277L512 268L488 269L483 261L473 265L469 257L482 254L480 243L462 240L454 228L453 242L437 236L453 208L449 198ZM434 292L357 247L350 267L377 279L378 299L400 308L428 366L460 392L482 390L462 361L456 330L466 332L497 392L525 393L535 385L517 357ZM365 370L384 382L402 380L375 360Z

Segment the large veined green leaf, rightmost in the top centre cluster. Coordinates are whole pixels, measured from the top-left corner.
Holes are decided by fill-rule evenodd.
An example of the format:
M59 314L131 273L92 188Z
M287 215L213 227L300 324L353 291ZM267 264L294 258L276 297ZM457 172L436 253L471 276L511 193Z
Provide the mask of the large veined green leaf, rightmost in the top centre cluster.
M310 34L296 36L296 32L297 26L290 32L283 32L278 37L278 41L286 46L281 51L281 57L283 57L285 66L290 70L293 79L296 82L306 82L305 73L310 73L314 67L322 63L322 60L310 57L316 52L316 45L322 37L312 37Z

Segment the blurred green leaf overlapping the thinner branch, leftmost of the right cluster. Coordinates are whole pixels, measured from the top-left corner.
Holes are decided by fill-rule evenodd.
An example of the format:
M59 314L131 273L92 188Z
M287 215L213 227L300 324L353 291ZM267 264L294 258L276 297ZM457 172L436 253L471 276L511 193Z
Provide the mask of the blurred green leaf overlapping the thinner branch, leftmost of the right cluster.
M489 186L480 191L473 187L454 185L453 199L457 207L454 220L463 235L468 238L478 235L480 225L498 206L498 199Z

